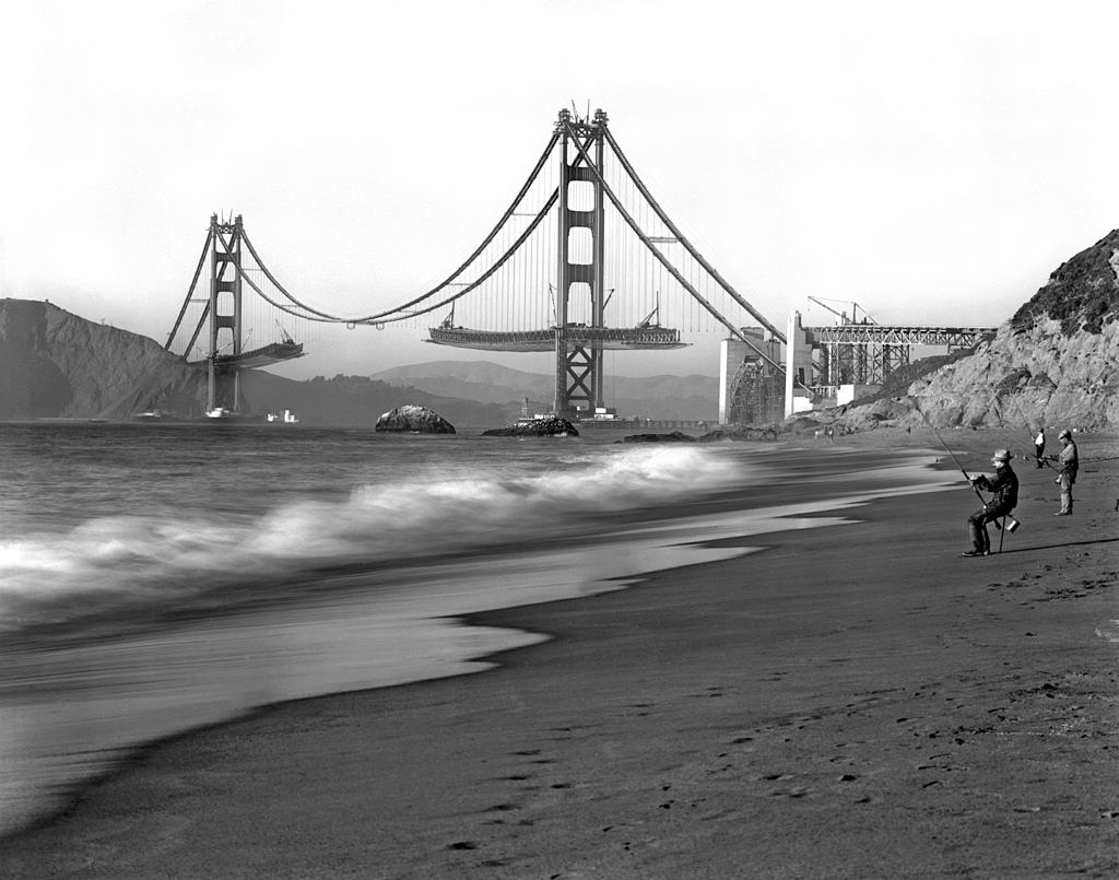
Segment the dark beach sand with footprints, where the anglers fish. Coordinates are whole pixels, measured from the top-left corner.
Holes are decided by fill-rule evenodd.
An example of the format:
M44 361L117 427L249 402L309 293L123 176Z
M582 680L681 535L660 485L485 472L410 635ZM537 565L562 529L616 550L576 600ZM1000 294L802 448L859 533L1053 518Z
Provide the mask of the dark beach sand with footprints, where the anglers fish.
M946 439L984 464L1006 446ZM1052 471L1016 461L1023 526L986 559L959 555L960 477L747 556L474 616L554 638L153 746L0 843L0 873L1119 876L1117 464L1087 460L1054 517Z

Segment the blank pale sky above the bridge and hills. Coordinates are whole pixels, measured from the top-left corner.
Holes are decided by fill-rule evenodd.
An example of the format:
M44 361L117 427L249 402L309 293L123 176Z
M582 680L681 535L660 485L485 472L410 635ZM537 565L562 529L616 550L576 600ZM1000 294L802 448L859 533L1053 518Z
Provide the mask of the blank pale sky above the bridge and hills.
M668 215L778 326L996 326L1119 226L1106 2L3 3L0 297L160 343L214 213L303 302L367 315L473 250L601 107ZM327 327L279 372L549 355ZM718 372L718 335L614 369Z

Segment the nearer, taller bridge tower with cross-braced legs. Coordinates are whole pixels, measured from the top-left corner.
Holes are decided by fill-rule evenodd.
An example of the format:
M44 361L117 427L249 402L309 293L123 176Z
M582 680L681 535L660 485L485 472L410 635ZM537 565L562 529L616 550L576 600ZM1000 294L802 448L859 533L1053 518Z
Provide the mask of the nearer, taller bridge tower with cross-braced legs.
M585 409L589 415L602 406L602 349L591 348L568 338L568 307L573 297L590 298L590 326L602 327L605 308L603 270L605 263L605 235L603 224L603 196L600 179L604 169L602 157L606 133L606 114L594 111L591 120L573 118L567 110L560 111L556 128L560 143L560 290L556 294L556 387L555 412L570 415ZM573 148L576 139L582 151ZM593 156L599 175L584 156ZM585 198L590 187L591 198ZM580 191L582 190L582 191ZM574 196L574 197L573 197ZM572 203L574 202L574 207ZM573 247L573 237L583 242ZM590 237L587 253L586 238ZM581 262L572 262L573 251ZM586 262L589 258L590 262Z

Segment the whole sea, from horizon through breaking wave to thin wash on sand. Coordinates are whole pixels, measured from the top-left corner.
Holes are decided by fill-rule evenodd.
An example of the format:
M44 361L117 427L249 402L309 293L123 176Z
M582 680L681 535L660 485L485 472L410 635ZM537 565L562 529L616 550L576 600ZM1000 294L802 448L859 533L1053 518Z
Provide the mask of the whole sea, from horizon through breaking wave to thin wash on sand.
M544 638L464 615L944 485L920 453L615 439L0 424L0 834L144 742Z

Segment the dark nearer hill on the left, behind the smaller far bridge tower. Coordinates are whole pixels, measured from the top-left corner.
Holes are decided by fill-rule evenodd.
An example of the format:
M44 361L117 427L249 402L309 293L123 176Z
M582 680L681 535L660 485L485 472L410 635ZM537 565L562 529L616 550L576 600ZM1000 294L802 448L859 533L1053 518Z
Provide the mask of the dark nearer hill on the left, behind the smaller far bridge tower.
M201 416L206 371L154 339L87 321L49 302L0 299L0 419L130 419L144 410ZM429 406L460 428L505 424L505 408L365 376L310 382L242 374L246 415L294 410L310 424L373 425L394 406Z

